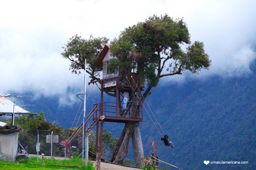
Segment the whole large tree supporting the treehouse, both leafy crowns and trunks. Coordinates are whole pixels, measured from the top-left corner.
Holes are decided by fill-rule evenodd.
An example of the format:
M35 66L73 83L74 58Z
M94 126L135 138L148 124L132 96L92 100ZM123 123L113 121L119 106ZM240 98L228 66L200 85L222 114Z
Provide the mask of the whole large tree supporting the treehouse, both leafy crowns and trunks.
M84 47L83 43L77 44L76 41L81 40L79 36L72 37L70 40L66 47L63 47L62 56L72 62L70 65L72 72L79 73L79 69L85 68L84 59L87 56L94 56L94 59L88 63L86 72L90 74L92 80L98 79L96 73L102 68L96 67L93 62L98 57L100 47L103 48L107 39L98 38L100 43L95 49L94 45L88 48ZM81 42L93 40L90 37L89 40ZM71 51L73 48L76 49L74 52ZM89 54L92 55L81 55L84 50L91 51L92 53ZM140 98L142 103L150 94L150 90L158 85L161 78L182 74L185 70L189 70L192 74L198 74L202 69L209 69L211 63L209 56L204 51L204 43L199 41L191 43L186 23L182 19L174 20L167 14L164 16L154 15L144 22L126 28L118 38L111 41L110 50L112 55L117 57L116 60L110 62L110 67L112 65L110 70L114 72L123 68L122 70L125 72L136 69L138 78L146 80L147 85L142 98ZM136 117L135 113L132 115ZM139 123L134 121L125 123L113 150L111 162L122 164L128 152L131 137L136 165L142 166L144 154Z

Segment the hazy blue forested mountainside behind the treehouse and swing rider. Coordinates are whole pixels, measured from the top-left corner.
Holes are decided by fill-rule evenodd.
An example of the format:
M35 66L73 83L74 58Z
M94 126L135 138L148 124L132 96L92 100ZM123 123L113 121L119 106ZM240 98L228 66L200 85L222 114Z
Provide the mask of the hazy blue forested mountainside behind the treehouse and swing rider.
M144 110L140 124L145 156L150 141L158 144L161 160L182 169L254 169L256 165L256 64L243 76L204 80L190 79L182 84L160 82L146 101L176 148L164 147L154 124ZM76 92L74 92L76 94ZM87 112L100 101L91 94ZM44 111L46 119L69 128L80 106L59 106L57 96L34 101L34 112ZM148 110L149 111L149 110ZM79 112L80 114L80 112ZM118 137L123 124L105 123L104 128ZM132 158L129 150L128 158ZM248 164L208 164L210 161L248 161ZM166 167L167 168L167 167ZM170 168L171 169L171 168Z

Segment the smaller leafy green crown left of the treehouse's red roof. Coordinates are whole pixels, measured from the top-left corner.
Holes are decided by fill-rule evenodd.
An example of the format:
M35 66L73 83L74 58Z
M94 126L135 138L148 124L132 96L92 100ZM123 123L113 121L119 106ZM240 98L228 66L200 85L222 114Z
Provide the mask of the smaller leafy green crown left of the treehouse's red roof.
M62 47L64 52L61 53L64 59L69 59L70 70L72 73L80 74L80 69L85 70L85 59L88 69L86 72L90 74L92 80L96 80L102 66L96 66L95 62L99 57L104 45L108 43L106 37L94 38L92 35L89 39L83 39L81 35L74 35L70 41Z

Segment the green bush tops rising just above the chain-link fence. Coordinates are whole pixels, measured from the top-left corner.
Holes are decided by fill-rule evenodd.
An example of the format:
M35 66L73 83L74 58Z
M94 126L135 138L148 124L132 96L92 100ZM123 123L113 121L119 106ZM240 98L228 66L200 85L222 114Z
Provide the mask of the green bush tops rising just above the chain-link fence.
M46 131L63 131L62 127L58 127L54 123L46 121L44 112L36 115L21 115L14 119L15 124L28 130L46 130Z

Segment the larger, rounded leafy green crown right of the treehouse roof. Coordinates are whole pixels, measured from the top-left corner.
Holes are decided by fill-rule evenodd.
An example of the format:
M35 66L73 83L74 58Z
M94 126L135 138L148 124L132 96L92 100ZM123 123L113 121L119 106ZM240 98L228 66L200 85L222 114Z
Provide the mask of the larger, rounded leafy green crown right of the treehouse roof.
M181 48L184 44L188 46L186 51ZM157 86L164 76L182 74L184 70L198 73L208 69L211 63L202 42L190 43L183 19L173 20L167 14L154 15L126 28L118 39L111 41L110 47L111 53L118 57L113 69L137 69L149 88ZM163 73L164 68L167 73Z

